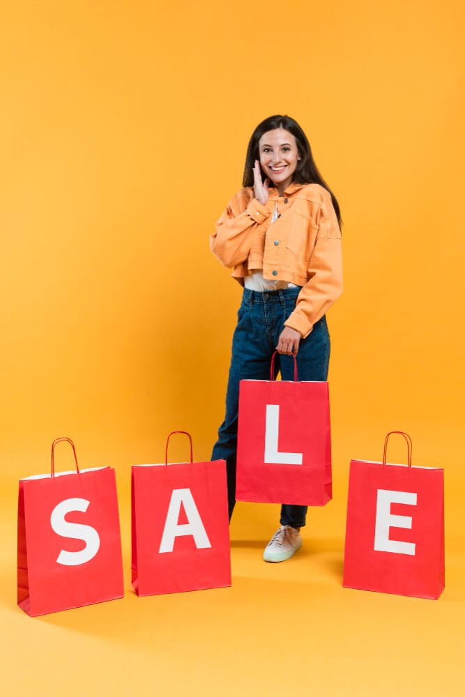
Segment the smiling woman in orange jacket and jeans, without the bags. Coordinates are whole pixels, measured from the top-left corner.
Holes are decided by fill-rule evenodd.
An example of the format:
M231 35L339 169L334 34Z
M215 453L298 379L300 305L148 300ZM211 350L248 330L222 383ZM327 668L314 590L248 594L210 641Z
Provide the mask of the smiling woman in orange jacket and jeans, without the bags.
M340 226L339 204L298 123L281 115L261 121L247 148L243 188L210 236L211 251L243 286L226 414L211 456L227 462L229 520L236 503L239 381L268 380L275 350L283 380L293 379L293 353L300 380L327 379L325 313L342 292ZM306 514L306 506L282 505L264 560L284 561L300 548Z

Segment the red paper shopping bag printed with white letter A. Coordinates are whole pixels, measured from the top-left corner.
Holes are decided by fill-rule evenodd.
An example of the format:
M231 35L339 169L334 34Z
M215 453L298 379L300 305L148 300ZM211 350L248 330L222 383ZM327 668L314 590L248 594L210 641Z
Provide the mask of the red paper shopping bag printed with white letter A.
M173 433L190 462L168 464ZM169 434L165 462L132 466L132 585L159 595L231 585L226 462L192 462Z

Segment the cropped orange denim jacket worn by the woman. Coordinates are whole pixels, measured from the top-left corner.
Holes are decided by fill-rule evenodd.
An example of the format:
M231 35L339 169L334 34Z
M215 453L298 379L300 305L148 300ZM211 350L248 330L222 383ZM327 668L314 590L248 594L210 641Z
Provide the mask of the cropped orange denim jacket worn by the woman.
M270 222L277 206L278 217ZM319 184L291 183L268 201L245 187L231 198L215 223L210 249L232 276L243 279L261 269L265 279L303 286L284 325L305 339L342 293L341 231L330 193ZM243 281L241 282L243 284Z

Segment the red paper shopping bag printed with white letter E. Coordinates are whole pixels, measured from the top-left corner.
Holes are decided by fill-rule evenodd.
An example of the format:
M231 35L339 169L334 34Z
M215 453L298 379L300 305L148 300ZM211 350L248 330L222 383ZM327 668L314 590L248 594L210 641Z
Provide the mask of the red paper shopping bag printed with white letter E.
M408 445L408 466L386 464L391 433ZM352 460L344 581L360 588L436 599L444 588L444 470L411 464L411 438L390 431L383 462Z

